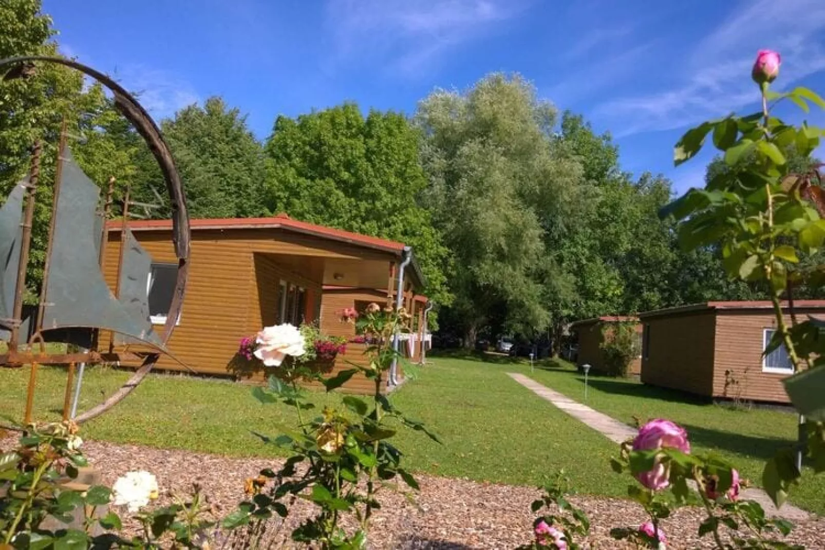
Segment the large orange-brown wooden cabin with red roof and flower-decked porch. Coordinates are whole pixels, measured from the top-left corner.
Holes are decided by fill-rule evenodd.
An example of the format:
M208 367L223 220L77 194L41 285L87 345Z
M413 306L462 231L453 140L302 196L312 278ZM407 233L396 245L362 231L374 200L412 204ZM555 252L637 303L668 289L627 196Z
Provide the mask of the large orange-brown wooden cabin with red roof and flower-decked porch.
M120 241L122 224L110 223L106 229L110 243ZM163 324L177 275L172 223L140 220L130 222L129 229L153 258L146 281L148 313L154 324ZM103 267L112 288L118 280L119 250L118 246L106 247ZM171 356L162 357L158 368L262 381L270 368L253 367L237 353L244 336L284 322L296 326L318 322L330 336L355 336L351 325L340 322L340 312L347 305L336 301L334 293L325 294L325 286L363 289L364 294L358 296L382 305L394 303L398 265L405 254L412 255L412 251L400 242L300 222L285 214L192 219L186 296L167 346ZM415 292L423 285L413 256L402 282L410 309L416 303ZM350 307L353 303L346 302ZM106 346L106 337L101 338L101 346ZM363 344L351 342L346 355L323 369L328 374L347 369L347 361L365 359L363 352ZM342 390L368 393L372 388L370 380L356 376Z

